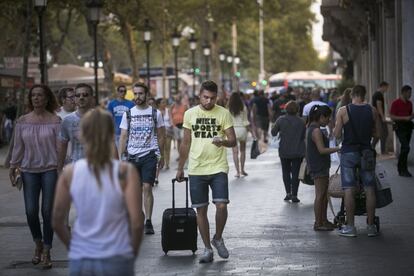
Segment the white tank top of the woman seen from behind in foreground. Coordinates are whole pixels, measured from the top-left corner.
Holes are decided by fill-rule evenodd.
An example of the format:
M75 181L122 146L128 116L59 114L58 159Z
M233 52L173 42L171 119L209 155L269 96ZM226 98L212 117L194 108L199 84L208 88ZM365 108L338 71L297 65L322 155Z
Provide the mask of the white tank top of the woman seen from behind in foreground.
M101 171L99 187L86 159L74 164L70 194L77 216L69 259L133 256L119 161L112 160L112 171L112 179L108 168Z

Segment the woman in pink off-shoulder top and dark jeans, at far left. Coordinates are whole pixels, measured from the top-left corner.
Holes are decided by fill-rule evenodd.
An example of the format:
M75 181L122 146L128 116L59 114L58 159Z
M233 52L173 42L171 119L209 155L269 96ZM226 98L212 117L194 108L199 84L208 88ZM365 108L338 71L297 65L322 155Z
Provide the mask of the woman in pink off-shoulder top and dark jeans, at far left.
M58 107L55 95L46 85L34 85L28 97L31 112L17 121L9 176L11 182L15 183L20 171L23 180L27 223L36 243L32 263L36 265L42 262L43 268L51 268L51 215L57 181L57 137L60 118L54 113ZM40 193L43 233L39 220Z

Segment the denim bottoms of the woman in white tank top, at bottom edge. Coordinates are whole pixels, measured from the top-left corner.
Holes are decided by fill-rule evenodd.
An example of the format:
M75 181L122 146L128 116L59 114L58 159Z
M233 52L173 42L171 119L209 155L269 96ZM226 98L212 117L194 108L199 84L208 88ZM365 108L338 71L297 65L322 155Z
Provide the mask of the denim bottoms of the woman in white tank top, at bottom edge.
M69 276L88 275L125 275L133 276L135 259L133 257L114 256L103 259L69 260Z

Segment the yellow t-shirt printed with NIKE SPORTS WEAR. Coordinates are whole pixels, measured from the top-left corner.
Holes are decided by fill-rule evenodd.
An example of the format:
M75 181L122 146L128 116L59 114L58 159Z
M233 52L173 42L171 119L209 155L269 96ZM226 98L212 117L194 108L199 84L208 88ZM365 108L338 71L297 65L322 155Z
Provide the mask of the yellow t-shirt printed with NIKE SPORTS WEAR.
M228 172L226 148L217 147L212 142L215 136L226 139L224 131L232 126L230 112L218 105L212 110L195 106L185 112L183 127L191 130L188 174L211 175Z

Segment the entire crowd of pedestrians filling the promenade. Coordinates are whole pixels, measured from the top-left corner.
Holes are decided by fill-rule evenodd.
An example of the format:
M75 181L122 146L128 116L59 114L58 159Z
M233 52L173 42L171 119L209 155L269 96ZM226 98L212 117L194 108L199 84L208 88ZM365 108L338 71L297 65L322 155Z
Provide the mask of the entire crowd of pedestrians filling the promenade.
M69 250L70 275L93 274L102 268L133 275L142 234L156 232L153 187L160 172L170 168L173 142L179 153L177 180L184 180L188 166L191 203L205 246L199 261L213 261L212 247L228 258L223 239L230 202L226 148L232 149L235 177L247 177L248 134L266 144L269 129L280 140L284 200L300 202L299 170L305 159L315 184L313 229L334 230L327 217L327 190L330 156L340 151L347 223L339 234L357 235L354 198L359 179L367 198L368 236L376 236L375 168L365 166L366 158L375 155L367 157L365 152L372 153L381 140L381 153L387 153L384 93L388 89L389 84L381 83L371 104L365 101L361 85L342 94L331 91L329 96L319 89L288 88L270 97L257 91L251 98L236 91L228 100L222 96L219 104L217 85L205 81L199 97L190 101L176 95L169 106L166 99L152 98L148 87L138 82L132 86L133 101L125 99L127 88L120 85L104 110L95 107L88 84L62 88L57 97L48 86L35 85L28 93L29 112L15 123L9 154L11 182L23 180L27 222L35 243L32 263L52 266L56 231ZM411 177L407 167L414 118L411 90L404 86L389 112L401 144L398 172L403 177ZM216 207L212 239L207 216L210 189ZM77 214L73 228L68 224L71 204Z

